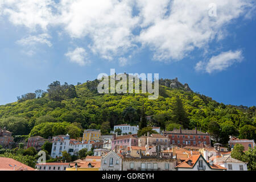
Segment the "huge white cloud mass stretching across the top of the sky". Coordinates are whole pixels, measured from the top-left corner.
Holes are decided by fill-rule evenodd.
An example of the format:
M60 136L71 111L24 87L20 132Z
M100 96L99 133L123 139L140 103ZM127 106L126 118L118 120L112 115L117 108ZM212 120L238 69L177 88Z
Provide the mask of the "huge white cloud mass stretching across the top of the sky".
M154 52L155 60L181 60L194 49L224 39L227 24L255 9L253 0L2 2L2 12L11 23L31 31L61 28L57 31L67 32L74 41L89 38L90 51L108 60L144 47ZM208 15L210 3L217 5L217 17Z

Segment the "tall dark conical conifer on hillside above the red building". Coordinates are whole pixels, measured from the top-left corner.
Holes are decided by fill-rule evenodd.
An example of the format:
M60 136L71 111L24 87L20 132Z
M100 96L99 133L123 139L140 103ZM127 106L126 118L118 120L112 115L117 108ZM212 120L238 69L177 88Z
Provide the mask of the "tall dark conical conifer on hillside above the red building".
M174 105L174 122L179 123L184 128L189 128L189 119L179 97L176 97L176 103Z

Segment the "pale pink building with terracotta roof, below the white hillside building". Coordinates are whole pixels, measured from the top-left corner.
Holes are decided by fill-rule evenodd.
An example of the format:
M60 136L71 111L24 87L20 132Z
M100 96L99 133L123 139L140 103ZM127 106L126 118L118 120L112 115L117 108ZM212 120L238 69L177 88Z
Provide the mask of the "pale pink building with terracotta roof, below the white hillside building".
M135 138L134 135L122 135L117 136L113 135L112 148L115 150L115 146L138 146L138 138Z

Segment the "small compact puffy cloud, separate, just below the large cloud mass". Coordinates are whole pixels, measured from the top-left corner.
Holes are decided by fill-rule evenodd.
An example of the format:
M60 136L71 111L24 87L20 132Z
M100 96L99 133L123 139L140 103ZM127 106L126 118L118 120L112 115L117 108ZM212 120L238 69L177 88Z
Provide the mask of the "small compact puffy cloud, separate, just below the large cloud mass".
M77 47L73 51L68 51L65 53L65 56L69 57L70 61L73 63L77 63L81 66L85 64L90 64L90 60L87 58L87 53L84 48Z

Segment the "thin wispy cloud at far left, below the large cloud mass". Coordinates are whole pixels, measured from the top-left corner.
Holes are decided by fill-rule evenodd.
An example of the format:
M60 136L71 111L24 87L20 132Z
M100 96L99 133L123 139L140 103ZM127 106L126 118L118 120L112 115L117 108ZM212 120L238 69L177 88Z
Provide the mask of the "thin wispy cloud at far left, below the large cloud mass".
M51 36L48 34L40 34L37 36L28 36L26 38L20 39L17 41L18 44L22 46L34 46L35 44L47 44L47 46L51 47L52 43L48 40Z

